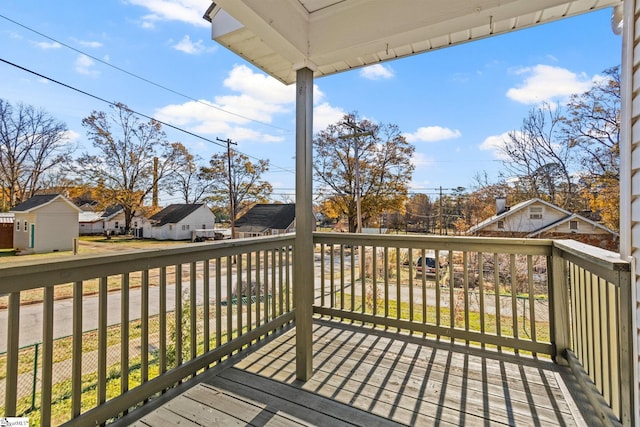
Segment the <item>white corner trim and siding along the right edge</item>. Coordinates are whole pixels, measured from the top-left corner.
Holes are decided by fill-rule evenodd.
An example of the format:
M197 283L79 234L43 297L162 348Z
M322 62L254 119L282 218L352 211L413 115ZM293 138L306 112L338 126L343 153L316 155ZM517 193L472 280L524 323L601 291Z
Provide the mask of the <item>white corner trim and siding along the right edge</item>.
M640 420L640 361L638 360L638 318L640 317L640 276L637 267L640 262L640 95L638 78L640 56L636 46L640 42L637 19L640 16L640 2L625 0L623 10L622 39L622 111L620 137L620 256L631 260L632 287L621 293L621 300L635 300L635 313L620 319L623 328L628 328L624 336L629 338L630 354L622 355L631 360L632 372L622 372L624 385L632 391L631 396L622 396L627 401L623 408L630 407L629 413L622 414L623 425L632 425ZM624 390L624 388L623 388Z

